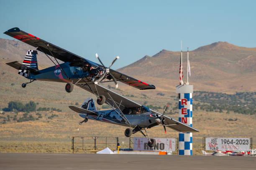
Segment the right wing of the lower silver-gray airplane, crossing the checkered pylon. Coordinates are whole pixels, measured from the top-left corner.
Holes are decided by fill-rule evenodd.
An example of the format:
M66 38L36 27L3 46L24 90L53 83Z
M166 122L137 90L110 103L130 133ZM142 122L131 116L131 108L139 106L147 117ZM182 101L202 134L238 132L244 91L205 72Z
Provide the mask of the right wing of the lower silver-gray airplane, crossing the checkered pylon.
M156 112L152 109L150 109L150 110L151 110L152 113L162 115L161 113ZM165 126L171 128L171 129L174 129L178 132L199 132L199 130L197 130L196 128L190 127L187 124L184 124L182 122L174 120L171 117L168 117L168 116L164 115L164 118L165 118L165 120L164 120Z

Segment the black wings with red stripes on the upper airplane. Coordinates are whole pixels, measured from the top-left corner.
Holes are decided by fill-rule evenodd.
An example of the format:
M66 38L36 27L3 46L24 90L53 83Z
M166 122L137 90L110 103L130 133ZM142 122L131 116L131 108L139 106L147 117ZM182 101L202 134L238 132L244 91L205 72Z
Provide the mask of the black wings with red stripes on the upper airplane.
M38 38L29 33L26 33L25 31L20 30L17 27L11 28L10 30L5 31L5 34L8 36L11 36L13 38L16 38L19 41L27 43L27 44L35 47L36 50L46 53L49 56L53 56L54 58L57 58L64 62L70 62L70 65L75 66L75 65L86 62L86 63L90 64L91 66L103 67L100 64L94 63L90 60L87 60L87 59L81 57L81 56L78 56L74 53L64 50L63 48L55 46L52 43L44 41L41 38ZM130 86L133 86L137 89L140 89L140 90L156 89L156 87L154 85L146 84L143 81L134 79L133 77L127 76L118 71L110 69L110 73L115 77L115 79L117 79L117 81L121 81L121 82L128 84Z

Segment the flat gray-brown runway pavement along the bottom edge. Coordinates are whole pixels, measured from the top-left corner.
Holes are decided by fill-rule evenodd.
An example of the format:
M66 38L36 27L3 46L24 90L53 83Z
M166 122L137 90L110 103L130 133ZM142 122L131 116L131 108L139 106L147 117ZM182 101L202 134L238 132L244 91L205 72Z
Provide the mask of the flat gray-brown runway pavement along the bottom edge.
M256 157L0 154L0 170L255 170Z

